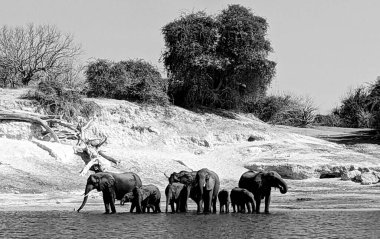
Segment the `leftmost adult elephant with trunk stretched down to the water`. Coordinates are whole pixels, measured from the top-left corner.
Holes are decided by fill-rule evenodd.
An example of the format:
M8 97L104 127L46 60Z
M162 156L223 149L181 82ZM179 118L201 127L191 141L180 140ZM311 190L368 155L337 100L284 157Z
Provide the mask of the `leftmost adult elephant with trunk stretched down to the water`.
M132 172L126 173L95 173L91 174L87 179L86 189L84 191L84 199L78 212L87 202L88 194L93 189L103 192L103 202L106 212L116 213L115 199L121 200L126 193L131 192L135 187L141 187L140 177Z

